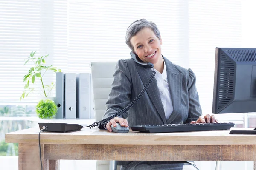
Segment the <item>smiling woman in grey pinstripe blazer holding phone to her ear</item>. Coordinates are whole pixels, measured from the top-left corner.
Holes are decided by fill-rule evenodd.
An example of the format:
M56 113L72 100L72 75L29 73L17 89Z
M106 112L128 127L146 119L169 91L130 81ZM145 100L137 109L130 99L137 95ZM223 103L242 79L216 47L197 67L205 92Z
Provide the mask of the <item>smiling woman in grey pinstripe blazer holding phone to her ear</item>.
M133 108L107 123L106 128L110 132L111 125L116 127L116 122L125 127L215 122L214 116L208 116L206 120L198 119L202 110L195 87L195 74L191 69L175 65L162 56L162 39L153 22L145 19L133 22L126 31L126 44L142 62L154 65L155 79ZM152 68L135 61L132 58L117 63L103 118L124 109L151 76ZM122 170L198 170L193 161L125 161L120 164L124 165Z

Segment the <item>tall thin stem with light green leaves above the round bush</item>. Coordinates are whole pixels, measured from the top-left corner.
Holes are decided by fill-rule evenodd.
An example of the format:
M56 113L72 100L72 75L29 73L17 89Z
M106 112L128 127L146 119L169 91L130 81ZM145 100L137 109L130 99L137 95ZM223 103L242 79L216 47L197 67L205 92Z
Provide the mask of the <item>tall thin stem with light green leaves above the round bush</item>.
M42 88L40 88L40 90L43 92L43 96L48 97L52 89L55 88L55 84L52 82L51 85L44 85L44 74L47 71L61 72L61 69L57 70L57 68L53 67L52 65L45 66L45 59L49 56L49 54L46 56L36 58L35 53L36 51L32 51L30 53L30 57L27 58L24 64L26 65L28 62L33 62L34 66L31 67L28 73L23 77L23 82L26 82L26 84L24 86L24 91L20 96L20 100L25 96L27 97L29 93L35 91L35 88L32 88L30 86L30 82L34 84L36 79L39 79L41 81Z

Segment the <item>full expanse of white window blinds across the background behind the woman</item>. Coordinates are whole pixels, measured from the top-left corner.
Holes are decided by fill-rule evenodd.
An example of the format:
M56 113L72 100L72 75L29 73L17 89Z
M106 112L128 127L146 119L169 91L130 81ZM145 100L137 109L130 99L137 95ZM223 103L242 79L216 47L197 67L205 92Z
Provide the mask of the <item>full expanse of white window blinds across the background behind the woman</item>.
M31 51L47 65L90 72L90 61L130 58L125 31L135 20L157 24L162 54L191 68L203 113L212 112L215 47L255 47L253 0L0 0L0 103L19 102ZM254 45L254 46L253 46ZM55 74L45 75L55 82ZM36 83L36 86L40 84ZM52 91L55 96L55 91ZM23 102L37 102L30 94Z

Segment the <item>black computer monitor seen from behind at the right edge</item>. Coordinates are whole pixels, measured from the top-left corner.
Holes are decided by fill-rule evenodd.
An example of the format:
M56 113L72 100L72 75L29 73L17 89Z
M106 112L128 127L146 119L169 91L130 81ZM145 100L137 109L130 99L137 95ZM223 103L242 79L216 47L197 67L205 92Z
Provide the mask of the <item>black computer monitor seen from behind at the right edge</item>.
M256 48L216 48L212 113L256 112Z

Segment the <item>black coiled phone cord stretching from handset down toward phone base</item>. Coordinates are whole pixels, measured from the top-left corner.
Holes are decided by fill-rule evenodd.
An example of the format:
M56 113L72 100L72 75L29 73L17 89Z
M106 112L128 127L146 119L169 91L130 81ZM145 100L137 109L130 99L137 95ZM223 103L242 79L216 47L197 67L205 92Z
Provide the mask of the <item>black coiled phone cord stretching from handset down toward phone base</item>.
M122 111L119 111L117 112L116 114L112 115L112 116L109 116L99 122L94 122L93 124L89 125L89 126L85 126L85 127L90 127L93 128L95 126L99 126L99 125L103 125L104 123L107 123L109 122L111 119L115 118L115 117L118 117L120 115L122 115L123 113L125 113L126 111L128 111L131 107L134 106L134 104L143 96L143 94L148 90L148 87L150 86L151 82L153 81L154 79L154 76L155 76L155 71L154 71L154 68L152 70L152 74L151 74L151 77L149 78L148 82L146 83L146 85L144 86L144 88L142 89L142 91L140 92L140 94L128 105L126 106L124 109L122 109Z

